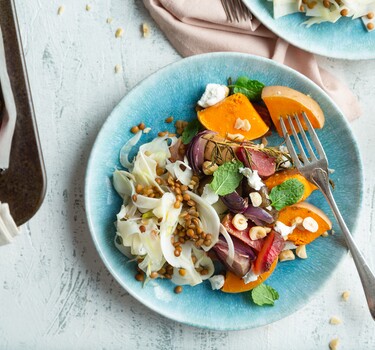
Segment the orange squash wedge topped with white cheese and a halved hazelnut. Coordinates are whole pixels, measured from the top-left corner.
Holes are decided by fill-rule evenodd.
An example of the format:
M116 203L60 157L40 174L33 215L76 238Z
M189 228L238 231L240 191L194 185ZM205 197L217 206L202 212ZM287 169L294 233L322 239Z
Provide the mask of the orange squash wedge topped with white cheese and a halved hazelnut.
M288 235L288 241L293 242L297 246L309 244L324 232L332 229L332 222L327 215L319 208L307 202L300 202L283 208L279 212L277 220L285 225L292 226L293 221L297 217L302 219L311 217L318 223L318 230L316 232L310 232L297 226L294 231Z

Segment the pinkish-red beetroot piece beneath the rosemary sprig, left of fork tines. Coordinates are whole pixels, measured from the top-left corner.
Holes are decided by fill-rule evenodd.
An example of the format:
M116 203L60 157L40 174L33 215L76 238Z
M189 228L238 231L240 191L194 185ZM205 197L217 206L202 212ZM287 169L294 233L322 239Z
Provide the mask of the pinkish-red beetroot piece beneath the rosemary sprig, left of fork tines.
M276 171L276 159L268 154L257 151L255 149L248 149L251 155L251 164L249 163L246 151L243 147L239 147L236 154L238 159L248 168L258 170L260 177L268 177Z

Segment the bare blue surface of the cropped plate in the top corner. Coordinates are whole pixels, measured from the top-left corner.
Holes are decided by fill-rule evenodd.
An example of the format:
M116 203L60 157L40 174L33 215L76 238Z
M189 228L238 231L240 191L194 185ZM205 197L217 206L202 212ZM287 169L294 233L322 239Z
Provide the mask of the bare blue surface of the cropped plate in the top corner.
M273 3L266 0L243 0L266 27L291 44L323 56L349 60L375 58L375 32L367 32L362 20L340 18L336 23L322 23L307 28L302 13L273 18Z

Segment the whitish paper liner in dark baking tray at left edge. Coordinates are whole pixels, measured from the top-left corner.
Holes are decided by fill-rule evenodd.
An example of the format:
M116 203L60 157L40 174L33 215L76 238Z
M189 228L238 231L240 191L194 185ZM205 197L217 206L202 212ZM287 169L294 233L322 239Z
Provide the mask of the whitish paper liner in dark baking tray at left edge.
M12 87L10 85L3 35L0 28L0 85L3 91L5 106L0 106L0 171L9 167L10 149L16 125L16 106L14 104Z

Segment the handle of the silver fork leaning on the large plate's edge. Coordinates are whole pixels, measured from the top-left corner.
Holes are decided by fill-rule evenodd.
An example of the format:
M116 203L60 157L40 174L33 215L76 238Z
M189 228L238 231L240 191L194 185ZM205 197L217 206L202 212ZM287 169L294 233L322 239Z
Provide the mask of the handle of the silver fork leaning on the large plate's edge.
M346 244L352 254L354 263L357 267L357 271L359 277L362 282L363 290L365 292L366 300L368 307L370 309L370 313L372 318L375 320L375 276L374 273L371 271L370 267L365 261L362 253L358 249L353 237L345 224L345 221L340 213L339 208L337 207L336 201L333 198L328 175L327 173L320 168L314 169L311 179L313 182L319 187L322 191L323 195L327 199L328 204L330 205L332 212L344 234Z

